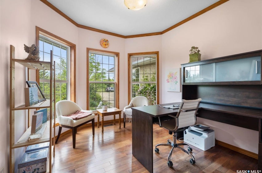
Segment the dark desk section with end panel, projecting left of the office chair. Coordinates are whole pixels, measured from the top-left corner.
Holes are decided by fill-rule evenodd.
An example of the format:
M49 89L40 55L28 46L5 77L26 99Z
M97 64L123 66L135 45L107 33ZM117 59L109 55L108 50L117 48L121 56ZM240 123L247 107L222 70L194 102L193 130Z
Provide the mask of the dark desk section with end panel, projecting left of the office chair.
M161 104L171 105L179 103ZM154 118L176 115L178 109L158 105L132 108L132 154L149 171L153 172L153 122Z

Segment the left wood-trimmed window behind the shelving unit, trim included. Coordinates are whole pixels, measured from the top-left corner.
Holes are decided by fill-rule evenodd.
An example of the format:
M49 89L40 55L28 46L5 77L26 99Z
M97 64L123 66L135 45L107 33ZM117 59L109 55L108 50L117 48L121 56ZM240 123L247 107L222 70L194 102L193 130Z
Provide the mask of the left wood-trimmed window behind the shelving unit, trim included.
M53 51L56 102L64 99L76 102L76 45L36 27L36 46L39 46L40 61L50 61L50 50ZM49 78L49 71L39 70L36 74L36 81L47 99L50 97Z

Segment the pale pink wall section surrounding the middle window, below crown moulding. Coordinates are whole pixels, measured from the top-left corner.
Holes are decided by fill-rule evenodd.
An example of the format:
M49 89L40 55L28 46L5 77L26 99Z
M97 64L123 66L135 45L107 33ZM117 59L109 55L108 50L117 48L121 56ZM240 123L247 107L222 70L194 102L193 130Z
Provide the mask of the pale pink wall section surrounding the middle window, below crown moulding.
M79 28L78 29L78 63L77 63L77 103L79 106L83 109L87 108L86 105L86 63L87 63L87 52L86 48L91 49L99 49L99 50L106 50L106 51L112 51L112 52L119 52L120 53L120 59L119 59L119 81L120 81L120 88L119 88L119 95L120 95L120 109L123 109L125 107L123 103L123 96L125 95L125 89L123 88L123 81L125 81L124 74L125 74L125 39L115 36L110 36L106 34L102 34L99 32L93 32L86 29ZM102 38L106 38L109 40L109 47L107 49L104 49L100 46L100 40ZM123 115L122 115L123 117ZM118 115L116 116L118 118ZM104 117L104 120L112 120L113 116L106 116ZM101 121L101 118L100 118ZM95 118L95 122L97 122L97 119ZM101 129L97 129L101 130Z

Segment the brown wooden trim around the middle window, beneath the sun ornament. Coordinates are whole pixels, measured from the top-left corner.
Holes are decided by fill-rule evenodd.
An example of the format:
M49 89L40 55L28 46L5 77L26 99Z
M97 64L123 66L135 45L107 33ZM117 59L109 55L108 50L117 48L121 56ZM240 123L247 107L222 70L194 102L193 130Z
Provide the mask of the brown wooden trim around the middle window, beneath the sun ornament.
M86 110L89 110L89 52L96 52L96 53L107 53L111 55L116 56L116 108L119 109L119 52L112 52L112 51L106 51L106 50L100 50L100 49L91 49L91 48L86 48Z

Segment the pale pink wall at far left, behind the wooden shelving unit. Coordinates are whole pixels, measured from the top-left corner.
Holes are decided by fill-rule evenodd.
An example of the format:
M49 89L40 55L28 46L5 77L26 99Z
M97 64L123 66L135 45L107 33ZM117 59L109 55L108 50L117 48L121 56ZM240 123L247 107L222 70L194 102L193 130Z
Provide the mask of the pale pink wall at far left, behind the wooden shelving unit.
M1 43L0 43L0 58L1 58L1 103L0 103L0 169L4 167L4 172L8 171L9 163L9 72L10 72L10 44L15 47L15 58L25 59L27 53L24 51L24 45L32 44L30 38L30 15L31 4L30 0L25 1L3 1L1 0ZM11 8L6 8L10 6ZM19 15L17 15L19 14ZM23 15L21 15L23 14ZM25 68L22 65L15 65L15 85L25 86ZM24 88L15 88L15 105L24 103ZM25 111L15 112L15 142L27 129L24 117ZM16 149L16 156L22 157L24 148ZM19 162L19 160L16 160Z

